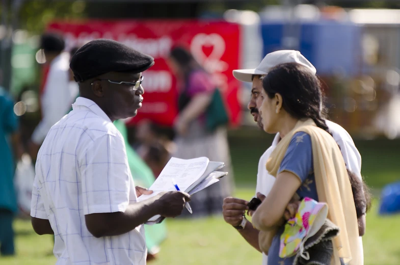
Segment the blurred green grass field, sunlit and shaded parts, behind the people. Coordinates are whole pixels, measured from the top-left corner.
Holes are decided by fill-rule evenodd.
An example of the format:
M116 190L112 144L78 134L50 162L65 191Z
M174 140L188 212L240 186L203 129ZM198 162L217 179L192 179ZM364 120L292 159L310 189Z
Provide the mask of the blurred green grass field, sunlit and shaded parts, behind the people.
M271 143L271 138L230 138L236 180L235 195L249 199L254 194L258 157ZM386 183L398 180L400 141L358 141L363 156L363 175L369 186L379 191ZM379 193L377 193L379 194ZM400 264L400 216L377 215L378 199L367 215L367 232L363 237L365 264ZM168 239L163 243L158 260L150 264L260 264L261 255L252 249L222 217L200 220L168 220ZM0 257L0 264L49 265L56 259L51 254L51 236L36 235L28 221L15 222L17 256Z

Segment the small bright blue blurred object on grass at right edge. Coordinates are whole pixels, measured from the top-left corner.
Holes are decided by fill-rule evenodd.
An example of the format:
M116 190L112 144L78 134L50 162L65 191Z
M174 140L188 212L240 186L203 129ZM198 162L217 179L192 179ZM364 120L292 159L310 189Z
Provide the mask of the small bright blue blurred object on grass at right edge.
M400 181L387 185L381 194L380 215L400 213Z

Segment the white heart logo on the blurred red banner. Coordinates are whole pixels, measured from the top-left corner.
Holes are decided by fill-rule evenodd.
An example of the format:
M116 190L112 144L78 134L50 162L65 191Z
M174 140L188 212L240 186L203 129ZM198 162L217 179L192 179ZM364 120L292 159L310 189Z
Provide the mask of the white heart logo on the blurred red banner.
M212 47L211 54L206 56L203 47ZM221 35L211 33L197 34L191 43L190 50L193 57L209 72L223 72L228 69L228 64L221 61L225 52L225 40Z

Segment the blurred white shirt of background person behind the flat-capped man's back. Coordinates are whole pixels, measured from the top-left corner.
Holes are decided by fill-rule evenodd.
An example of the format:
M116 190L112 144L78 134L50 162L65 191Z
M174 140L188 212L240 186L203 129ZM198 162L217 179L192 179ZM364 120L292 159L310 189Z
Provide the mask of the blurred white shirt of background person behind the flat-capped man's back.
M43 95L41 96L42 120L36 126L32 141L40 145L51 126L56 124L71 109L77 96L76 85L69 82L69 54L63 52L50 64Z

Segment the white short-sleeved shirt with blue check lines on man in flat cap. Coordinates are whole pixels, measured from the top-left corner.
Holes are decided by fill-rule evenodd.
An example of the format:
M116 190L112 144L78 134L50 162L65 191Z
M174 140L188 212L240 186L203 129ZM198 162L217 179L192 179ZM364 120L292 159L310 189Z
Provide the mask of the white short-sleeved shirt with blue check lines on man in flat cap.
M49 220L58 265L145 264L143 225L99 239L86 228L85 215L124 212L137 197L118 129L89 99L72 107L39 150L31 216Z

